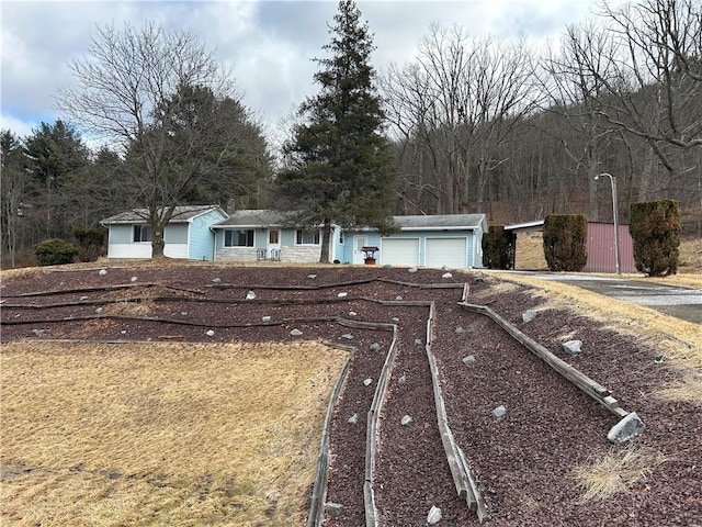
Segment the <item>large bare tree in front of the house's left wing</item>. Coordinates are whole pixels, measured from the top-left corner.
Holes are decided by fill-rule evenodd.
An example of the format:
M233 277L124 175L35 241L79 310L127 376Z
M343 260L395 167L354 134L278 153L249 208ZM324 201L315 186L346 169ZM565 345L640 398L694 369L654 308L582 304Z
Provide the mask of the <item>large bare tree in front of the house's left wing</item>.
M59 92L59 108L128 154L125 183L134 206L148 209L154 257L162 256L176 206L216 172L213 164L240 152L240 134L222 122L242 108L240 98L193 35L151 23L99 29L71 69L78 86Z

